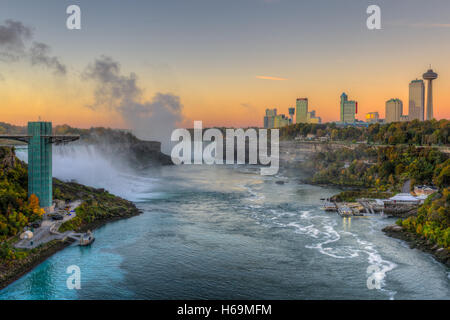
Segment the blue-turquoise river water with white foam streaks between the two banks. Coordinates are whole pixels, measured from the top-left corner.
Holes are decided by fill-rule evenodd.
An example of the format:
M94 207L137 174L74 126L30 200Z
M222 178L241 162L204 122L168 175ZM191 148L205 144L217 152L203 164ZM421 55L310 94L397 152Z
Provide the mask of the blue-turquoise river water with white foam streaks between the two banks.
M96 184L143 214L96 230L91 247L58 252L0 299L450 298L448 268L380 231L393 219L325 213L320 198L337 190L302 184L294 172L182 166L114 180ZM70 265L81 269L80 290L66 286ZM380 289L367 287L369 266Z

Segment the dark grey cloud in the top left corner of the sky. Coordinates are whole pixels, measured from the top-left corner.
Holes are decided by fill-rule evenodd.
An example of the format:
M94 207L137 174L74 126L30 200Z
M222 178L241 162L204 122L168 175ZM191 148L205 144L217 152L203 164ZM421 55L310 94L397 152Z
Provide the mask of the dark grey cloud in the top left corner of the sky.
M31 65L44 66L56 74L66 74L66 66L57 57L50 56L51 48L42 42L28 43L33 39L32 28L20 21L6 20L0 25L0 60L5 62L29 60Z

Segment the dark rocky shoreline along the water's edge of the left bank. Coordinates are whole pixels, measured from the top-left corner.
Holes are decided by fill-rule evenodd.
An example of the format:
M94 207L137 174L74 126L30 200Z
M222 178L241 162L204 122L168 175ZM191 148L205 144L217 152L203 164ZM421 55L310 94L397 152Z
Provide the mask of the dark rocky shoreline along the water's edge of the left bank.
M109 217L106 219L94 221L81 227L79 231L85 232L87 230L95 230L103 227L108 223L122 219L132 218L140 215L141 213L142 211L136 208L136 211L133 214L129 214L126 216ZM13 263L12 266L9 267L5 265L0 265L0 293L1 290L8 287L15 281L19 280L20 278L28 274L30 271L32 271L34 268L39 266L41 263L45 262L48 258L53 256L57 252L64 250L73 243L74 240L69 239L53 240L44 244L42 247L37 248L39 251L36 253L31 253L30 256L24 259L24 261L17 260ZM6 269L6 271L4 271L4 269Z

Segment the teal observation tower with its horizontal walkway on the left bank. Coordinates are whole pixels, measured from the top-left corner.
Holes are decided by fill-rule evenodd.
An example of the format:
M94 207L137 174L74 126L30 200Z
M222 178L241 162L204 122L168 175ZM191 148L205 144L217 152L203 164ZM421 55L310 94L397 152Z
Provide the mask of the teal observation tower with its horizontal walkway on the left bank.
M0 139L28 144L28 196L35 194L39 205L52 211L52 144L78 140L76 135L53 135L51 122L28 122L26 135L0 135Z

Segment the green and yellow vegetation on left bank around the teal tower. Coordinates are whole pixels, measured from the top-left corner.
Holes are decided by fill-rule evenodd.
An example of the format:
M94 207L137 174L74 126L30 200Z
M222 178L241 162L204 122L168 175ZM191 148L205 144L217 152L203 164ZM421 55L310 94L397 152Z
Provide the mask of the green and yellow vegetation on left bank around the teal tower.
M0 266L5 266L35 253L16 249L13 244L26 226L42 218L44 211L36 196L27 197L27 165L17 159L14 148L0 147L0 169ZM53 193L55 200L83 201L76 209L77 217L64 223L61 231L93 228L109 220L139 213L130 201L106 190L74 182L53 179Z

